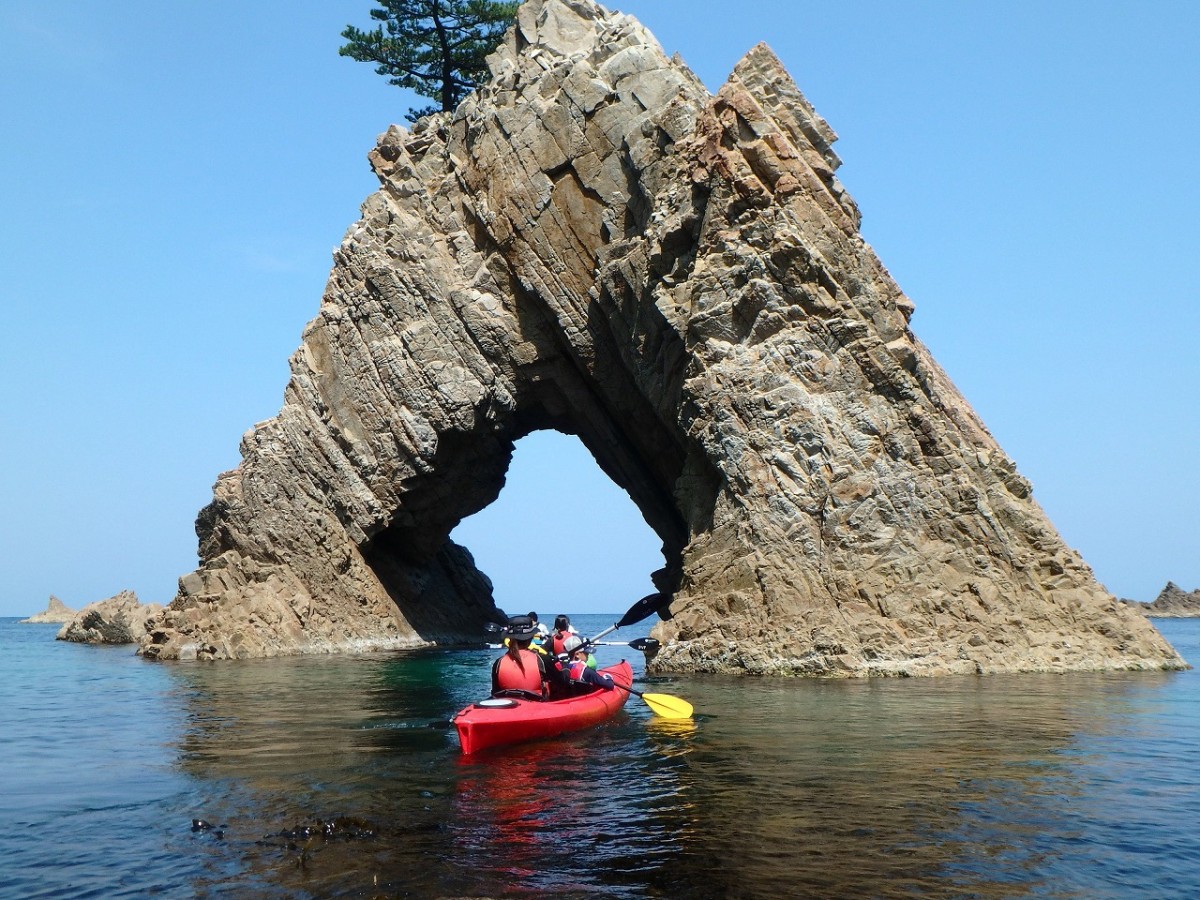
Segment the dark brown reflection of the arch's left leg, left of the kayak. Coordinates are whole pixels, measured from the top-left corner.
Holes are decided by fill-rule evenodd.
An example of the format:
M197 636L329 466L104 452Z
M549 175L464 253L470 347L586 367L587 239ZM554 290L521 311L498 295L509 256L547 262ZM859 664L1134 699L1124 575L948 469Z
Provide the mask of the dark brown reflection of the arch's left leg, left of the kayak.
M340 896L427 882L451 818L446 731L473 685L474 654L397 653L172 666L187 708L180 764L197 815L223 840L197 841L196 893Z

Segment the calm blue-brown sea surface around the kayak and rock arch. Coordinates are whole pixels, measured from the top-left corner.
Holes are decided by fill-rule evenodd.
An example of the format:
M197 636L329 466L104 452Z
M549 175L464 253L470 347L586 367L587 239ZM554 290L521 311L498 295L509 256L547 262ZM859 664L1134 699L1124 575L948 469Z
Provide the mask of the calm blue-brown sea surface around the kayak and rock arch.
M1200 660L1200 620L1157 624ZM0 619L4 898L1200 895L1194 671L642 678L695 722L631 698L464 761L446 720L494 650L162 665L54 634Z

